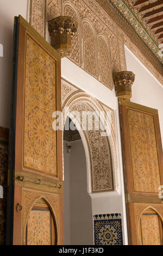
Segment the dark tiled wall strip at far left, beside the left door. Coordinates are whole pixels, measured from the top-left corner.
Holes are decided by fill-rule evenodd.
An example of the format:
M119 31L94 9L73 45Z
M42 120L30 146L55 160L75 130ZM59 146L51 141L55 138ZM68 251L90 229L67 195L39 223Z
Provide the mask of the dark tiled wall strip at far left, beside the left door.
M8 130L0 127L0 186L3 198L0 198L0 245L5 245L7 210L7 174L8 174Z

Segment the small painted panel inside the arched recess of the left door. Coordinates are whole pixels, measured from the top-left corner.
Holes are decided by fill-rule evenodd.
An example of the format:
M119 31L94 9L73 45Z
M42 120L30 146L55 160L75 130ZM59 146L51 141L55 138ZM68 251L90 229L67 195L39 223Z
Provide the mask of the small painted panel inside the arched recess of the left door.
M51 245L50 211L30 211L27 222L27 245Z

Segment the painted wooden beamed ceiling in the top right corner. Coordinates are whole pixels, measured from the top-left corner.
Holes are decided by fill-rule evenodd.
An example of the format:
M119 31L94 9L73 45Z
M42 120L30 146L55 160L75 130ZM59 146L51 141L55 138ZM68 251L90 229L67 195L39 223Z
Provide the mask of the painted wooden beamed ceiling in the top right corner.
M163 0L111 0L163 64Z

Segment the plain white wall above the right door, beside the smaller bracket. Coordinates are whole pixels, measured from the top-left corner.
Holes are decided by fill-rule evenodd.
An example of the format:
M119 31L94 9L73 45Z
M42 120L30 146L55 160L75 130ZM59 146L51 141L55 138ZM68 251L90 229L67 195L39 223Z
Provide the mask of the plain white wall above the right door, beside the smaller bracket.
M125 46L127 70L135 74L131 101L156 108L159 111L161 138L163 143L163 85L148 71L139 59ZM162 144L163 145L163 144Z

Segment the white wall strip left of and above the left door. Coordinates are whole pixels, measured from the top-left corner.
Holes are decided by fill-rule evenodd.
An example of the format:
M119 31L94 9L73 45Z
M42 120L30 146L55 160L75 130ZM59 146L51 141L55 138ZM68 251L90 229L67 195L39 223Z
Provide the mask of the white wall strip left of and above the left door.
M28 0L0 0L0 126L9 128L14 16L28 13Z

